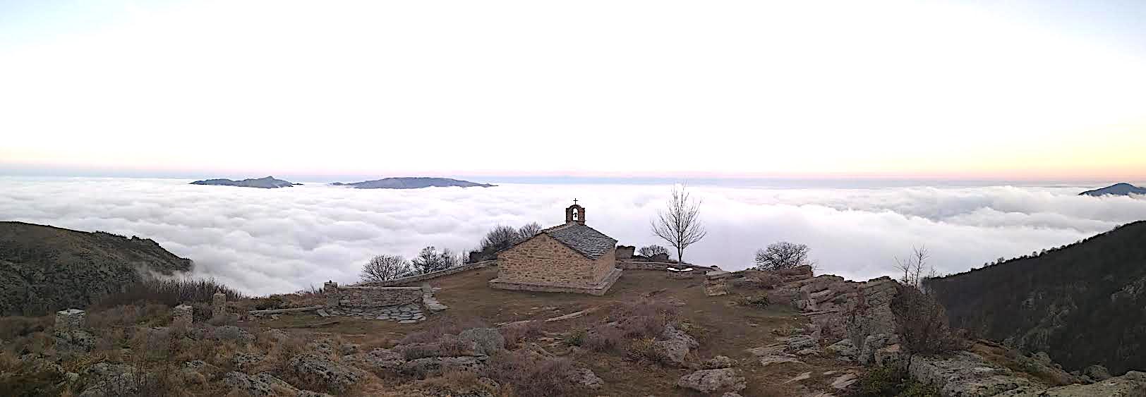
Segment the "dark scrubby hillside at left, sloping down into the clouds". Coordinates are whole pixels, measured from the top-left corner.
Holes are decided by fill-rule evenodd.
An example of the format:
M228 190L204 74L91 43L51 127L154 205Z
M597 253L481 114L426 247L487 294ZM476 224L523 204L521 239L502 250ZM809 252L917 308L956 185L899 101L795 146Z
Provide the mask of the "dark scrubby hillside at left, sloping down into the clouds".
M190 269L190 260L150 239L0 222L0 315L86 307L141 272Z

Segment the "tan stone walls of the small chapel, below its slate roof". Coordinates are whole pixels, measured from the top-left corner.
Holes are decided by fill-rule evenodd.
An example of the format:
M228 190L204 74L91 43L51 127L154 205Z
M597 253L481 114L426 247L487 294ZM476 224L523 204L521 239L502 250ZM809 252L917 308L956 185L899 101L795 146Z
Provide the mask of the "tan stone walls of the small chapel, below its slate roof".
M617 263L615 248L590 260L548 235L537 235L497 255L497 280L588 287L599 284Z

